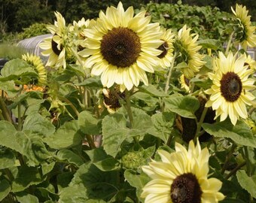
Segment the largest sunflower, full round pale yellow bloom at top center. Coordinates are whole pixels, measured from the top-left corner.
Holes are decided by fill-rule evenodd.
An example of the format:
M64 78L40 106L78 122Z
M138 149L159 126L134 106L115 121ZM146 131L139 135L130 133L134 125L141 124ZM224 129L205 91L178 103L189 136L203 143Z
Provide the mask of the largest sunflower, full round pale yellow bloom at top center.
M108 7L106 14L100 11L96 24L84 30L87 49L80 53L89 56L86 66L92 68L91 74L101 75L103 86L117 83L121 92L138 86L140 80L148 85L145 72L154 72L162 53L157 50L163 44L159 23L149 23L145 11L133 14L133 7L124 11L121 2L117 8Z

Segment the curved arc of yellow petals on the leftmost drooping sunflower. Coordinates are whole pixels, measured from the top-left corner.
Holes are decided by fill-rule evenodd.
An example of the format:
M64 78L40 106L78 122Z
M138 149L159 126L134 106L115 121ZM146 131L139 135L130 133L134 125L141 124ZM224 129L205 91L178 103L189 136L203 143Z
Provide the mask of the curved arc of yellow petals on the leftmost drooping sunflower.
M47 79L47 72L44 68L44 63L41 61L39 56L33 54L23 54L22 59L35 69L38 74L38 85L45 85Z

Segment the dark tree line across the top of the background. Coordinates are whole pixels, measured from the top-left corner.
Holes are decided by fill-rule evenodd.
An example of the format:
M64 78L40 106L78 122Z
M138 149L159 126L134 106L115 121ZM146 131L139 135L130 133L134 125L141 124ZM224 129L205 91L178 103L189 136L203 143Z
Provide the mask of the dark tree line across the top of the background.
M180 0L179 0L180 1ZM0 0L0 34L22 32L33 23L53 23L54 11L59 11L67 23L73 20L98 17L99 11L105 11L109 5L116 6L120 0ZM178 0L130 0L123 1L123 7L140 9L149 2L176 3ZM230 12L236 3L246 5L251 20L256 21L256 1L252 0L183 0L183 4L218 7L221 11Z

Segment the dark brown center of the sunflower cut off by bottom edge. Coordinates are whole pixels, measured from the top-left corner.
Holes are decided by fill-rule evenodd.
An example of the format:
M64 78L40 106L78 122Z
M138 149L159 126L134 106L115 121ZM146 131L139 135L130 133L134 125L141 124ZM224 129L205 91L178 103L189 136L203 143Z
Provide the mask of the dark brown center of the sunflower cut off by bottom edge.
M202 190L194 174L181 174L173 180L171 198L173 203L200 203Z

